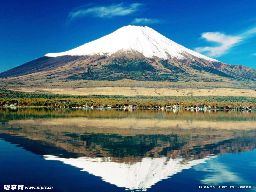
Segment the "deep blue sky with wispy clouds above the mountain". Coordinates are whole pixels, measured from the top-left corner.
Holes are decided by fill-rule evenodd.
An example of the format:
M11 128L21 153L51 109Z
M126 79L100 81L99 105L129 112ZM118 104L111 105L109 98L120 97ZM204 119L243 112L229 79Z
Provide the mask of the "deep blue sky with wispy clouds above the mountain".
M0 72L148 26L186 48L256 69L256 1L2 1Z

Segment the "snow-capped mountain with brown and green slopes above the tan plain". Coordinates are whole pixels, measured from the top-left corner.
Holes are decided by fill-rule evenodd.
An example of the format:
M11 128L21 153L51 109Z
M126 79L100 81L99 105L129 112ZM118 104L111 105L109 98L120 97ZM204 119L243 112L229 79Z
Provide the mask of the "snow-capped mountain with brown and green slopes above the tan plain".
M256 70L228 65L178 45L149 27L127 26L62 53L46 54L0 73L0 81L216 82L255 87ZM114 83L114 82L113 82ZM227 86L225 86L227 84ZM39 86L39 85L38 85Z

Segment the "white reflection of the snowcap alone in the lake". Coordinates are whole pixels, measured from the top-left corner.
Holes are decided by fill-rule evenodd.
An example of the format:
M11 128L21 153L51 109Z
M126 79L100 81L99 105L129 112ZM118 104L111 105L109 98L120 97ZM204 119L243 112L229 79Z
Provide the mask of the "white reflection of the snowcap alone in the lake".
M126 189L135 190L151 188L157 182L168 179L183 169L205 163L210 158L191 160L184 164L183 158L168 159L167 157L143 158L137 163L115 163L110 158L58 158L53 155L45 155L47 160L62 161L63 163L81 168L102 180Z

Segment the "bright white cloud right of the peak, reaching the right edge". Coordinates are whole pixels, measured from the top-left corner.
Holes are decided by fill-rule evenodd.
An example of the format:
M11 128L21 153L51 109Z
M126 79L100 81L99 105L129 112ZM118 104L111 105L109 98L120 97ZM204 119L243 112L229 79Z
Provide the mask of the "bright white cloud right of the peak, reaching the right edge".
M256 27L250 29L240 35L230 36L223 33L203 33L202 38L209 42L217 43L215 47L198 47L195 49L197 52L205 52L209 57L220 57L228 53L228 50L234 46L238 46L240 41L250 38L256 33Z

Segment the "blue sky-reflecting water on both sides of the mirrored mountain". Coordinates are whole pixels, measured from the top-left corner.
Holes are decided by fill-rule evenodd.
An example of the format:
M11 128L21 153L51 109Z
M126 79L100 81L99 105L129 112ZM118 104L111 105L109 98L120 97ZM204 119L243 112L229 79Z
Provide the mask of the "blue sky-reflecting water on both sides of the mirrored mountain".
M6 191L3 190L4 185L52 186L51 191L126 191L124 188L102 181L100 177L82 172L79 168L61 162L47 161L40 155L9 142L0 140L0 146L1 191ZM242 154L221 155L207 163L186 169L170 179L164 179L148 191L198 191L196 185L205 184L207 181L211 181L214 185L255 185L255 157L255 150Z

